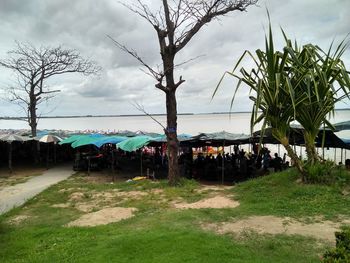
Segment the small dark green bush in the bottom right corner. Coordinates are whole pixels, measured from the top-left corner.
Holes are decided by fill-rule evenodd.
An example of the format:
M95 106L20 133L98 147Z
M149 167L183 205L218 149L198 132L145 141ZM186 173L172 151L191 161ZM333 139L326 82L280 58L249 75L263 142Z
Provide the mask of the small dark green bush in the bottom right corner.
M343 228L341 232L335 232L336 246L326 251L323 255L324 263L349 263L350 262L350 227Z

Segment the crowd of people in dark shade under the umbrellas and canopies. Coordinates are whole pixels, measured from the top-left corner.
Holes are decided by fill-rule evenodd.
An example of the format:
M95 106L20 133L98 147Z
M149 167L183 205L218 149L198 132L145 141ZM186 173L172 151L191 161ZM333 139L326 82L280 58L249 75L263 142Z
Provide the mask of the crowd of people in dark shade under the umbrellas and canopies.
M289 166L286 154L283 157L277 153L271 156L267 148L263 148L259 153L257 150L246 152L244 149L239 149L238 146L234 147L232 153L210 154L199 151L194 154L190 147L184 147L181 151L179 155L180 173L184 177L194 179L239 181L270 171L282 171ZM166 151L161 147L131 153L115 147L104 147L101 152L101 155L94 155L93 158L90 158L92 164L98 162L98 167L123 170L134 166L135 169L139 169L142 158L144 174L154 174L157 178L166 177L168 160ZM86 169L87 161L82 160L82 156L80 152L77 152L75 168Z

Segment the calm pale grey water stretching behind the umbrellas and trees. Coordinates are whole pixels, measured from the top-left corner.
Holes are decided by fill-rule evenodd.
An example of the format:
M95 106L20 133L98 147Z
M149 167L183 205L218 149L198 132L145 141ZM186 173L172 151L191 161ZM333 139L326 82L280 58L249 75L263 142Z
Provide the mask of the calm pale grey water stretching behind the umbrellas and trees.
M155 117L166 126L165 116ZM337 111L331 122L342 122L350 119L350 110ZM195 114L178 116L178 133L197 135L200 132L228 131L232 133L250 132L250 113L229 114ZM24 121L0 120L0 129L28 129ZM256 129L260 127L257 126ZM132 117L82 117L40 119L38 129L57 130L91 130L91 131L148 131L162 133L162 127L148 116ZM349 134L342 132L343 134ZM344 137L344 136L343 136ZM350 138L350 136L346 136Z

